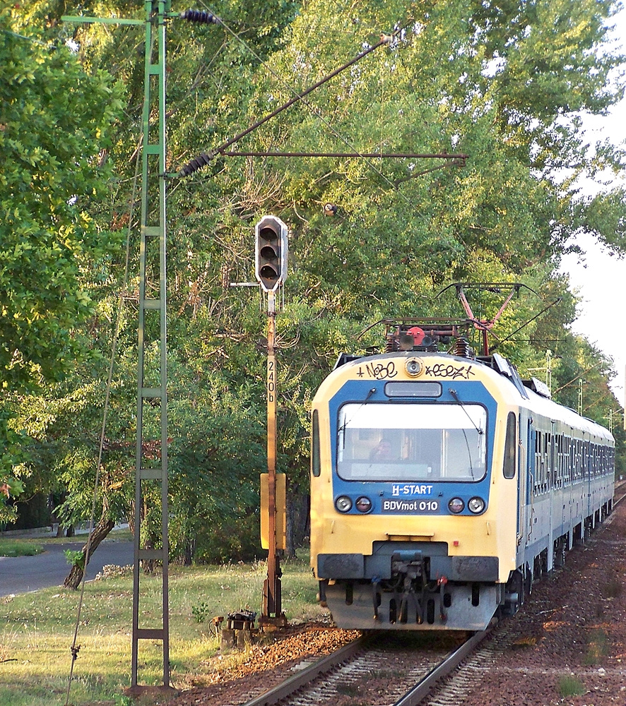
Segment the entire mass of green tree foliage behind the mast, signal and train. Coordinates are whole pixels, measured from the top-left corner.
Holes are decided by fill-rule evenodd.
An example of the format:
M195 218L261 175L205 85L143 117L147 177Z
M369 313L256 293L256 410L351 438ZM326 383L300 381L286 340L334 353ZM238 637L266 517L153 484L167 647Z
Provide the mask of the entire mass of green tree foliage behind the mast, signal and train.
M76 522L90 509L122 287L119 242L141 136L143 35L59 23L69 11L62 6L35 0L1 15L24 36L39 28L30 38L45 46L6 32L0 44L0 71L10 79L0 91L12 111L0 133L0 201L10 219L0 247L8 244L6 262L25 273L9 277L13 270L0 268L13 307L7 316L17 314L3 334L23 342L16 354L7 344L13 357L0 361L14 390L0 398L7 440L0 472L10 470L27 492L58 493L61 518ZM184 8L172 2L172 11ZM618 256L625 251L624 194L586 198L576 181L625 163L621 148L587 145L580 121L581 112L601 113L622 96L610 76L623 59L606 46L612 4L390 0L348 12L334 0L249 8L223 0L215 12L225 26L167 25L168 170L222 145L396 28L403 29L389 45L235 147L463 152L468 159L452 167L445 159L216 157L168 186L172 560L261 551L266 321L251 290L229 285L254 277L252 232L264 213L290 228L277 318L278 470L288 476L292 508L307 494L309 401L337 354L380 349L381 328L359 335L386 316L461 315L453 290L437 297L449 282L531 287L536 294L524 290L500 319L498 351L522 374L542 377L536 369L550 349L556 399L577 407L584 375L584 412L606 423L618 407L607 386L610 361L570 333L577 301L557 267L582 230ZM98 13L139 17L141 8L105 0ZM70 37L75 52L66 48ZM17 128L26 114L28 134ZM322 215L328 202L338 205L335 217ZM131 226L134 274L122 296L99 488L100 512L116 518L132 516L134 497L138 246ZM150 273L148 280L158 286ZM483 292L471 304L489 318L502 299ZM478 337L472 344L480 345ZM147 357L158 363L158 350ZM69 361L76 361L71 369ZM25 394L21 388L34 382L43 388ZM148 410L147 438L159 437L158 421ZM146 488L143 539L158 546L158 489ZM295 542L305 534L306 527Z

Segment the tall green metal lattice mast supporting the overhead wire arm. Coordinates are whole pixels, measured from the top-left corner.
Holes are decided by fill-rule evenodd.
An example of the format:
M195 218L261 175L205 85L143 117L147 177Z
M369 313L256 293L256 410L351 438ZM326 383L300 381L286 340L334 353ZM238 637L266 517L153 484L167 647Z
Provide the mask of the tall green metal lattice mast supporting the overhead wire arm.
M137 363L137 433L134 515L134 580L131 650L131 688L138 687L138 641L160 640L163 647L163 688L170 689L170 628L168 600L167 538L167 308L165 257L165 20L170 15L171 0L145 0L145 19L95 18L64 16L73 23L143 25L144 99L141 186L141 241L139 250L138 363ZM150 121L150 115L158 116ZM153 273L149 275L148 273ZM146 290L158 296L146 296ZM146 341L146 321L155 332ZM148 364L146 346L158 341L158 360ZM158 438L146 438L144 416L150 416ZM146 458L150 448L152 460ZM157 453L155 453L155 449ZM150 498L160 496L160 546L141 546L141 522L146 509L146 484ZM160 487L159 487L160 486ZM156 491L156 493L155 493ZM159 492L160 491L160 492ZM162 565L161 616L150 627L139 626L139 599L142 562Z

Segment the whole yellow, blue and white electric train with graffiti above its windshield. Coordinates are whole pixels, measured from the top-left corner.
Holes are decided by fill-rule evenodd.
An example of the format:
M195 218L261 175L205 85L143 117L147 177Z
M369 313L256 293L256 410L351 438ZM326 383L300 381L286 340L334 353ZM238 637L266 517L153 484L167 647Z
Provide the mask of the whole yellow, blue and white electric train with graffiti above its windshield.
M613 436L454 326L386 340L313 400L319 598L341 628L483 630L611 512Z

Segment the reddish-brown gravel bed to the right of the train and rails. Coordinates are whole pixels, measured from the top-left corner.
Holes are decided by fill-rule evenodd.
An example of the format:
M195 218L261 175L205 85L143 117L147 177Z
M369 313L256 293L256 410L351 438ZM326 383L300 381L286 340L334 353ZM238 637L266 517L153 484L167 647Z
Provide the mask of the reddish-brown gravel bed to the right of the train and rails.
M626 705L626 501L447 688L456 706ZM459 688L460 687L460 688ZM570 694L572 690L578 694ZM435 704L437 700L427 703Z

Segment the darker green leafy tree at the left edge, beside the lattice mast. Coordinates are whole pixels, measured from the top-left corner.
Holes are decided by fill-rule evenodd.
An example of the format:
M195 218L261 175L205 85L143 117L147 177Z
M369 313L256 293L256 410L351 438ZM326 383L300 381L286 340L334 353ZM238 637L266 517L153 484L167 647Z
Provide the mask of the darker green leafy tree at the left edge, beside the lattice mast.
M74 331L92 311L93 268L117 246L89 204L107 191L102 155L121 105L107 73L88 76L33 28L18 33L15 11L0 10L0 482L13 491L26 440L9 396L89 354Z

